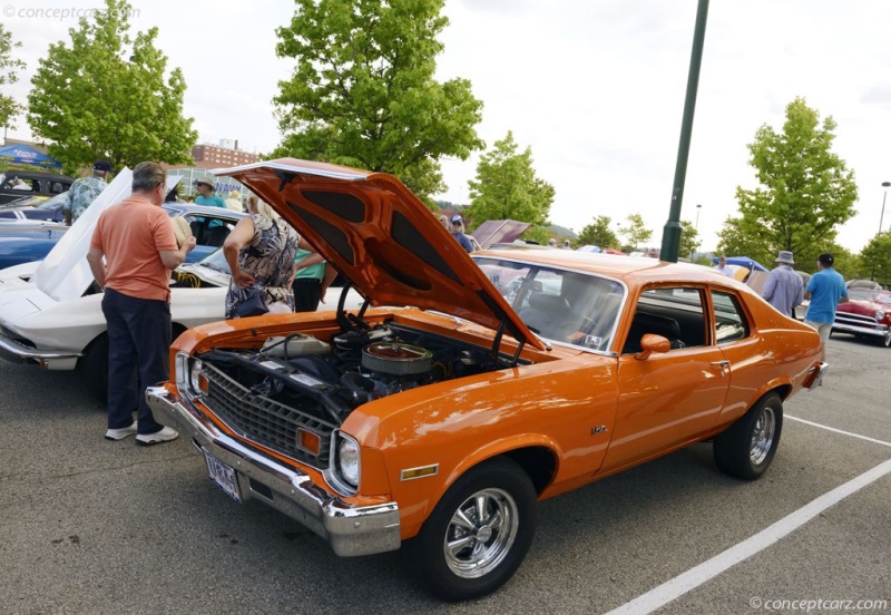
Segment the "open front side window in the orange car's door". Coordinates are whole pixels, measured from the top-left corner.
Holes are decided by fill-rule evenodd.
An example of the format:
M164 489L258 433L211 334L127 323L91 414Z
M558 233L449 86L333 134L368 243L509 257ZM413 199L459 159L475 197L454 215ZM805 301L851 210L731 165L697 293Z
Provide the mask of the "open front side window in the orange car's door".
M699 289L660 287L644 291L635 308L623 354L640 352L647 334L662 335L672 350L705 344L705 311Z

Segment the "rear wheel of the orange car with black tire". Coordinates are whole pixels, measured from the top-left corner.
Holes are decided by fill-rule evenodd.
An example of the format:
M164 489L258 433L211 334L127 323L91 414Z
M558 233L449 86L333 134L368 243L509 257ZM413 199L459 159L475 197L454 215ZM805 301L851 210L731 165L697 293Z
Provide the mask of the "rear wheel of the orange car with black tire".
M768 393L715 437L715 463L736 478L760 478L776 455L782 431L783 401L776 393Z

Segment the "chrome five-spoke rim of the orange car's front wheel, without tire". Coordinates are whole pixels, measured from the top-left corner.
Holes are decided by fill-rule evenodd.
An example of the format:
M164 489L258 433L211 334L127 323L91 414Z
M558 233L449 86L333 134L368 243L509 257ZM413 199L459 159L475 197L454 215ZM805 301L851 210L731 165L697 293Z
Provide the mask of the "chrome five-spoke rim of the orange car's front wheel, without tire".
M452 515L442 550L449 569L461 578L479 578L508 556L520 516L517 502L502 489L482 489Z

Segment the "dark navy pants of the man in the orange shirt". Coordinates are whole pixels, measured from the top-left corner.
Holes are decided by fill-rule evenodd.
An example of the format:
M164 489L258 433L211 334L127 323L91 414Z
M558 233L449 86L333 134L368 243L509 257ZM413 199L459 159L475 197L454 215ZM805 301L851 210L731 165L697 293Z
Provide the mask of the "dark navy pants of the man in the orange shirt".
M137 432L155 433L164 426L151 416L145 391L170 378L170 305L105 289L102 313L108 323L108 428L129 427L137 409Z

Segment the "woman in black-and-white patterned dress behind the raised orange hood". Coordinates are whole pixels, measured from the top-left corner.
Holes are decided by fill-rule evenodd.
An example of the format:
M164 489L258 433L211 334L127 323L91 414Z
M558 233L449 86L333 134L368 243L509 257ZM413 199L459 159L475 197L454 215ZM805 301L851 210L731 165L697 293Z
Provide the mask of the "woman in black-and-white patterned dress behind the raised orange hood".
M235 306L255 287L264 291L270 312L293 312L294 254L298 245L307 244L267 203L253 196L247 211L249 215L238 221L223 244L232 270L226 318L236 318Z

